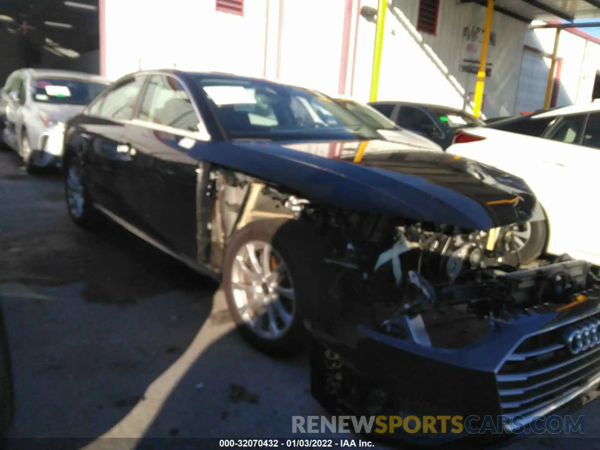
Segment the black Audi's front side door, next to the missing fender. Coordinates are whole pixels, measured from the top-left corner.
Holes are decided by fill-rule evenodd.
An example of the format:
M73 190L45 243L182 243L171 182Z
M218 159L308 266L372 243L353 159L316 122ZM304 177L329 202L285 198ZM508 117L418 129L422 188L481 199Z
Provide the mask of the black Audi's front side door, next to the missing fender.
M131 161L122 195L145 232L196 259L199 146L210 140L193 99L174 76L152 74L127 127Z

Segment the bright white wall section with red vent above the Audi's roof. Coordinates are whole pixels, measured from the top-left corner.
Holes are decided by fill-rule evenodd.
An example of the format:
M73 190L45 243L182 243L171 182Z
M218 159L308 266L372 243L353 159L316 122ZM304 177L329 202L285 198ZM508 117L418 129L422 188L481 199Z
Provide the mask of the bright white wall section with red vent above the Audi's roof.
M266 2L245 1L241 17L216 11L214 1L104 0L106 76L176 65L261 77Z

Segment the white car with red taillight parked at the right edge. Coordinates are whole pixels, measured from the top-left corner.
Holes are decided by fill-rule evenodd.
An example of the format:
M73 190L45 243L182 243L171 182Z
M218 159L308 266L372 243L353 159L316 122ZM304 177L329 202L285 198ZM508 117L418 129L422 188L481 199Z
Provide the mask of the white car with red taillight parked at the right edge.
M546 248L600 264L600 212L591 202L600 178L600 103L567 106L530 119L551 119L541 137L469 128L457 131L447 151L517 175L532 188L547 221L514 230L524 260Z

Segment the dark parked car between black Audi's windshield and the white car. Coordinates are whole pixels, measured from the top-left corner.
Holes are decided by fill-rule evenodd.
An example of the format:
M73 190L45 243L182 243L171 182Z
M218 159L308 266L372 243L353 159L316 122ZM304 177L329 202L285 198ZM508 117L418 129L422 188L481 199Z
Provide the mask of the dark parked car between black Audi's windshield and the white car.
M433 140L443 149L452 145L458 128L485 125L481 119L447 106L398 101L374 101L369 104L400 127Z

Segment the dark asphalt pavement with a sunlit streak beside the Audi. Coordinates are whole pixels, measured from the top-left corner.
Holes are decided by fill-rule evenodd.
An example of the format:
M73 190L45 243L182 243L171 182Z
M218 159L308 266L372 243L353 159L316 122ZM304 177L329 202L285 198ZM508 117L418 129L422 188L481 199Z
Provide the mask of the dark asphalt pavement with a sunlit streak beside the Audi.
M127 438L110 445L128 449L142 438L358 443L293 434L292 416L325 415L308 391L307 356L253 350L218 284L108 221L94 232L74 226L59 173L26 175L11 152L0 152L0 301L16 390L11 438L88 448ZM600 437L599 409L577 413L583 436ZM565 448L553 438L505 448Z

